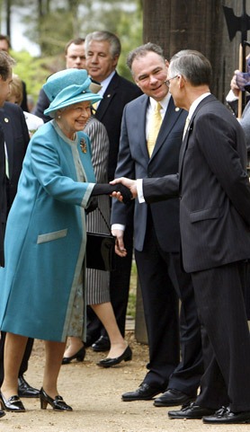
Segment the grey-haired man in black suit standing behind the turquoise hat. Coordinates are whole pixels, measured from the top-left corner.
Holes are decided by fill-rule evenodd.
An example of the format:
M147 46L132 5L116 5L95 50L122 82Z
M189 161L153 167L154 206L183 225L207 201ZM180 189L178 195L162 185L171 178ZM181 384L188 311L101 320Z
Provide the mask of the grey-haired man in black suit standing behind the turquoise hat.
M109 31L94 31L85 37L86 68L94 80L102 84L103 100L98 103L95 111L96 119L105 126L110 140L108 159L108 180L112 180L117 165L121 133L122 111L126 103L137 98L141 92L138 87L121 77L116 66L121 54L121 42ZM125 232L128 255L126 258L116 257L116 269L111 272L111 302L113 311L122 336L125 333L126 311L129 298L129 279L133 249L133 203L129 205L129 224ZM101 333L100 333L101 331ZM89 339L100 336L93 345L96 351L109 348L110 341L102 324L92 317L88 325Z

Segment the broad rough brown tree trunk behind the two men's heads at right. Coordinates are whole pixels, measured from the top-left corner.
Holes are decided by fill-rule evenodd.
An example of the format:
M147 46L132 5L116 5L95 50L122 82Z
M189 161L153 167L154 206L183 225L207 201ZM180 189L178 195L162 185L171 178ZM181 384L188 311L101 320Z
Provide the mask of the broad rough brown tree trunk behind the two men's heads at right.
M166 58L185 48L201 51L213 67L211 91L224 102L241 34L230 42L222 4L237 16L243 12L242 0L143 0L143 39L161 45Z

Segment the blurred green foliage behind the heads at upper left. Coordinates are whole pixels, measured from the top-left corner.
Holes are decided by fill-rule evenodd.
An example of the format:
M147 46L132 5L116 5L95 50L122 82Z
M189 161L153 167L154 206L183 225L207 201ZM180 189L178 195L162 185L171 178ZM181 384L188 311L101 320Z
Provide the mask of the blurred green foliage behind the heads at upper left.
M108 30L119 36L122 50L118 71L132 79L126 57L131 49L142 43L140 0L126 0L126 3L119 0L13 0L12 4L22 6L21 19L29 29L25 36L40 46L40 57L35 58L25 50L12 51L17 61L13 72L26 83L27 92L35 101L46 78L65 66L64 48L67 41L78 36L85 37L90 31Z

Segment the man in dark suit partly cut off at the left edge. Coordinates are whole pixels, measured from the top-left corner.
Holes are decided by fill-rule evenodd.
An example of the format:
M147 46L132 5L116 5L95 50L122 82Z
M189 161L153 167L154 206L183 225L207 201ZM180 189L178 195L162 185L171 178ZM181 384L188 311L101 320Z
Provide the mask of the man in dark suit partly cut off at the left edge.
M4 133L4 150L6 156L6 175L4 185L6 190L6 214L13 203L17 190L17 183L22 171L22 160L30 141L29 131L25 122L22 108L10 102L5 102L9 95L9 83L12 80L11 57L0 51L0 124ZM5 75L4 75L5 74ZM0 339L0 385L4 380L4 332ZM33 339L29 339L22 358L22 366L19 371L19 395L22 397L38 397L39 391L26 382L23 374L28 369L28 361L31 356Z

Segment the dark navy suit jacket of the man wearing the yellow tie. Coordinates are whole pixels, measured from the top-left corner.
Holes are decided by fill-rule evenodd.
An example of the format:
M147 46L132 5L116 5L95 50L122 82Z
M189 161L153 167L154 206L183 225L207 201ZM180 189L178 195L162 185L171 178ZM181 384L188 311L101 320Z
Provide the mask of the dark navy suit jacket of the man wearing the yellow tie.
M146 140L146 113L149 98L140 96L124 109L121 125L119 161L115 177L145 179L162 177L178 170L179 152L187 112L175 110L171 98L149 159ZM134 246L142 251L147 230L147 204L135 202ZM179 251L179 198L152 204L156 236L164 251ZM113 200L112 224L126 225L126 207Z

